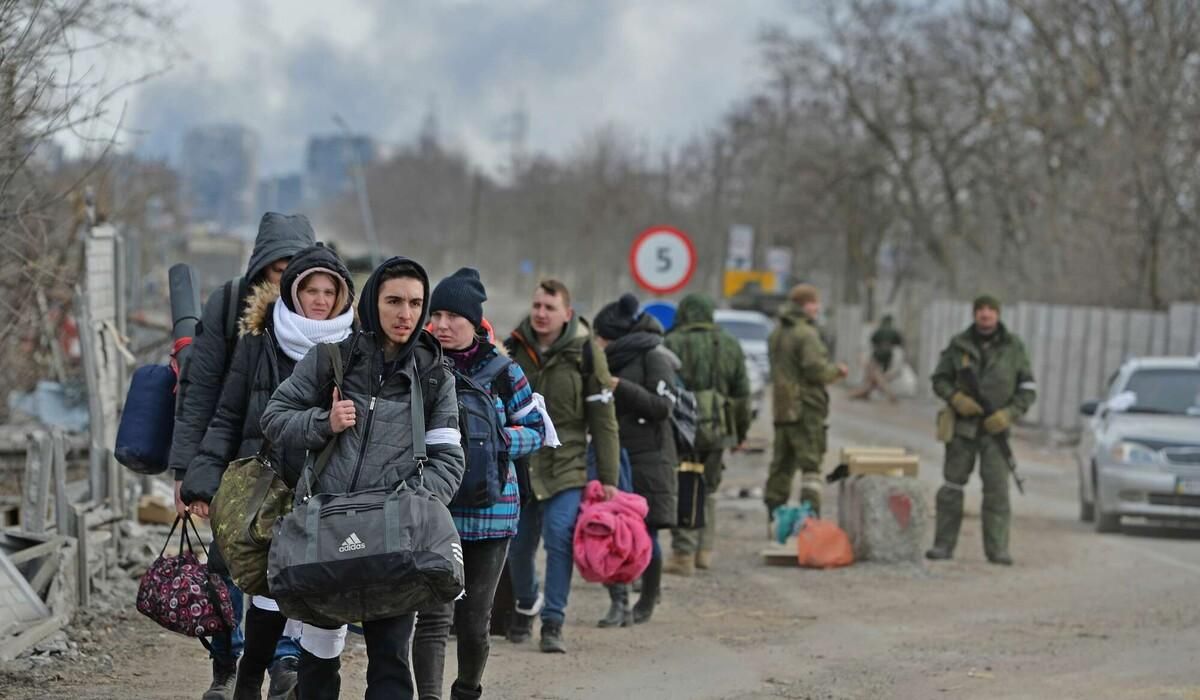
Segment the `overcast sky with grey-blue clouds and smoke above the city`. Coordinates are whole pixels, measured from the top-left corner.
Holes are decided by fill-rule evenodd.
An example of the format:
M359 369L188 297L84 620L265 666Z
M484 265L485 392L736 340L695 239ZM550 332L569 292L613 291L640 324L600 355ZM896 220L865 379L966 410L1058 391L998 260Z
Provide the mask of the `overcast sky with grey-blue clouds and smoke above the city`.
M126 140L178 156L187 127L259 133L259 170L299 170L337 112L384 144L430 104L442 140L497 164L523 101L528 146L551 154L613 121L655 146L713 124L761 79L756 37L796 25L797 0L503 0L346 4L205 0L182 6L184 55L131 91ZM803 5L803 2L799 2Z

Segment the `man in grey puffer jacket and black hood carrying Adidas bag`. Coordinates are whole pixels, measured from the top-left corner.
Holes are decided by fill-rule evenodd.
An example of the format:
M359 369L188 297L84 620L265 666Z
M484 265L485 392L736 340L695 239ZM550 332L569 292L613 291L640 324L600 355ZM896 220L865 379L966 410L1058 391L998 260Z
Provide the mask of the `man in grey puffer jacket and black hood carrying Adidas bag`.
M362 330L342 341L344 378L334 387L332 367L310 351L280 384L263 413L263 433L276 444L302 444L316 453L330 439L337 447L316 492L347 493L394 487L418 473L413 447L412 387L425 397L425 487L449 504L466 468L458 432L454 376L437 340L424 330L430 282L407 258L383 263L362 288ZM367 642L367 698L413 698L409 640L413 615L362 624ZM341 687L338 656L346 628L304 626L300 694L334 699Z

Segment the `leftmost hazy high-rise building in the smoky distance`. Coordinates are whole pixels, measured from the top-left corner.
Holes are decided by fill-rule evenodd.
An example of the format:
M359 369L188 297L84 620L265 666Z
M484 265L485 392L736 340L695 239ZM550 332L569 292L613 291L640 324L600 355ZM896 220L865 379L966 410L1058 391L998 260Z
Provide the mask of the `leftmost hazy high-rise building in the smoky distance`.
M221 227L257 220L258 136L240 125L211 125L184 136L184 196L193 221Z

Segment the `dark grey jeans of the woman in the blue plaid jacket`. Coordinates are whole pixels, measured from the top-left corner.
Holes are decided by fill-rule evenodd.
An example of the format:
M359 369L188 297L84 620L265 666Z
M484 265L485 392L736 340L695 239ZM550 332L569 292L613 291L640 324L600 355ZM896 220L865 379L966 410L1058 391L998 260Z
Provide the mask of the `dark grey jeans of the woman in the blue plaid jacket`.
M488 633L492 623L492 600L504 570L509 540L484 539L462 543L463 573L467 594L462 600L448 603L416 615L413 638L413 670L421 700L442 700L445 670L446 638L454 620L458 640L458 675L455 676L452 698L478 698L491 648Z

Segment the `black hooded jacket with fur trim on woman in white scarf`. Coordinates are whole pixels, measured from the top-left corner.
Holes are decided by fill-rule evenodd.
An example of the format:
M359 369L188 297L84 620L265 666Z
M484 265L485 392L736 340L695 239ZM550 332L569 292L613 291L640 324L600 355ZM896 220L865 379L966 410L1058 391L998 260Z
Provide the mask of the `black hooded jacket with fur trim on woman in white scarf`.
M204 433L200 450L192 460L180 498L185 503L203 501L210 503L221 486L221 477L230 461L259 453L263 431L259 421L271 394L283 379L292 376L296 361L280 349L275 336L275 305L280 303L280 289L290 289L295 280L306 270L324 268L342 280L342 292L347 304L354 294L350 273L330 249L317 244L307 247L288 264L280 286L259 283L246 301L246 310L239 321L239 341L229 363L224 387L216 414ZM293 304L286 304L293 309ZM338 309L335 316L346 312ZM290 486L295 486L304 467L304 448L276 444L271 450L272 463Z

